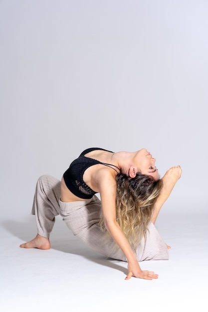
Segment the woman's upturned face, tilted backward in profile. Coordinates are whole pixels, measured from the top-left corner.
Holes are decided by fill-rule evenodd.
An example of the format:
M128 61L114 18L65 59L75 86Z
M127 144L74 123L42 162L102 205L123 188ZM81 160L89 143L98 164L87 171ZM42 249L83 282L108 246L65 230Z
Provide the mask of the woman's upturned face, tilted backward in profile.
M139 150L135 155L135 164L142 174L152 175L156 180L160 178L155 166L155 158L146 149Z

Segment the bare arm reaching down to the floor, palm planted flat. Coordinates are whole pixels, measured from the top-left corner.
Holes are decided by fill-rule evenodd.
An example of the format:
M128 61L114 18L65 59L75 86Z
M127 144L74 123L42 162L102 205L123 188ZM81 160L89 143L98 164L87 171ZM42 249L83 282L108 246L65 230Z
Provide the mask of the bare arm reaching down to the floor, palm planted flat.
M98 186L102 203L102 212L106 229L109 231L114 241L123 251L128 260L128 275L126 280L132 276L142 279L156 279L158 275L150 271L142 271L137 261L135 253L116 221L116 181L109 170L99 170L97 175Z

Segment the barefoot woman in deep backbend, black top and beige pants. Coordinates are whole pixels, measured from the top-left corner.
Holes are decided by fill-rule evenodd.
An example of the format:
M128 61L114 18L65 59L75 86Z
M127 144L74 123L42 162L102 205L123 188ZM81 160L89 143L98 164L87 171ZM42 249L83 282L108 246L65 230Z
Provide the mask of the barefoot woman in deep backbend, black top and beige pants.
M32 207L38 234L20 247L49 249L49 235L60 214L85 243L106 256L127 261L126 280L132 276L157 279L154 272L142 271L138 261L168 259L169 246L154 223L181 172L180 166L172 167L160 179L155 158L146 149L85 150L61 181L47 175L38 179ZM100 193L101 201L95 193Z

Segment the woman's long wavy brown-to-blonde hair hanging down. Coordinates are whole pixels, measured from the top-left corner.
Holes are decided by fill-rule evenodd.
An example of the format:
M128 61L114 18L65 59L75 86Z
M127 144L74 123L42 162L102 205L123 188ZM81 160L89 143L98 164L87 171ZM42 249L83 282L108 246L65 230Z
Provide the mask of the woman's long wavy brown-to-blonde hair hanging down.
M134 178L118 173L116 183L116 219L130 245L136 249L143 237L146 239L163 181L141 173L137 173ZM102 217L100 225L104 228Z

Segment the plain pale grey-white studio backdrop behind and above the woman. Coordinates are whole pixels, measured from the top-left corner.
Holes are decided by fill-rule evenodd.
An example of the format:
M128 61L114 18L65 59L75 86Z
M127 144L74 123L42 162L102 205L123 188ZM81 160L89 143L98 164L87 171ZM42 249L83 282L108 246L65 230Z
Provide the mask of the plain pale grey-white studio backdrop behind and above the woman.
M207 209L207 0L0 0L1 219L88 147L180 164L171 211Z

